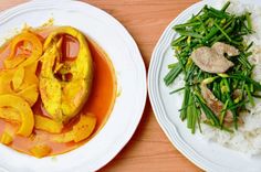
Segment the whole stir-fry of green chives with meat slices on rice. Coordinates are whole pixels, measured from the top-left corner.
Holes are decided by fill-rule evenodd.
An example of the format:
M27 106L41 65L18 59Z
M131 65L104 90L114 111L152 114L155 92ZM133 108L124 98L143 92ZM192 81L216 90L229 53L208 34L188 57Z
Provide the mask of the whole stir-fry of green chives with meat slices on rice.
M178 62L168 65L164 80L167 86L184 74L185 86L170 94L184 90L180 108L181 120L195 133L200 122L233 132L242 125L240 112L254 106L261 85L251 78L253 65L252 43L244 35L251 34L250 15L227 12L230 2L221 10L205 6L184 24L174 26L179 37L171 43ZM200 129L201 131L201 129Z

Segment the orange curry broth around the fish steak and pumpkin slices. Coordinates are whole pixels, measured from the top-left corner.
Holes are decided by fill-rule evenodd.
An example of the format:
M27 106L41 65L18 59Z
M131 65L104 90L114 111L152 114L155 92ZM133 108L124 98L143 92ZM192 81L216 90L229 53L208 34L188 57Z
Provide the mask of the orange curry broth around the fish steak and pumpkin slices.
M50 33L50 31L52 31L52 29L53 28L36 29L34 32L39 34L40 39L43 42L46 35ZM97 118L97 123L93 135L86 140L77 143L75 142L56 143L51 141L53 133L34 129L33 133L29 138L14 135L13 142L9 147L20 152L31 154L30 149L33 146L39 143L40 144L44 143L52 149L52 152L49 155L55 155L71 151L80 147L81 144L87 142L87 140L90 140L94 135L96 135L98 130L104 126L113 109L116 98L115 72L106 53L91 39L87 39L87 41L93 58L94 78L93 78L91 95L81 112L84 114L91 112ZM77 42L74 39L69 37L66 35L63 36L63 42L64 42L63 53L66 52L67 58L76 57L79 51ZM3 60L10 52L9 43L10 42L8 41L2 47L0 47L0 68L3 68ZM19 53L19 47L17 52ZM39 99L32 107L33 114L38 115L44 114L43 109L41 108L41 105L42 101L41 101L41 96L39 94ZM63 131L66 131L70 128L72 128L72 123L75 120L77 120L77 117L74 117L74 119L72 119L72 122L69 122L69 125L64 127ZM7 122L0 119L0 136L2 135L4 129L15 132L18 129L18 123L11 123L10 121Z

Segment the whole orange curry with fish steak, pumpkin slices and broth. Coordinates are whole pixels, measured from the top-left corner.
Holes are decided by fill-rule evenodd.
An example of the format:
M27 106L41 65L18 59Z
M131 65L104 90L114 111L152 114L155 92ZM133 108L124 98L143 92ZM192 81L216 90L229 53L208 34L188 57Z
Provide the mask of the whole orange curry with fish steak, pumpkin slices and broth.
M24 29L0 49L0 141L38 158L71 151L116 97L106 53L72 26Z

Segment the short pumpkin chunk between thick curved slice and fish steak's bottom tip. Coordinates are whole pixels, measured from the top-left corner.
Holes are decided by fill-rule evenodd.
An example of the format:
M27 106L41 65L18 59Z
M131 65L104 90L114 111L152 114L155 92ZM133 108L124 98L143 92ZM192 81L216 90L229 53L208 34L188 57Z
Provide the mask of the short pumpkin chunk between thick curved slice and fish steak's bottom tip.
M51 133L60 133L63 129L62 122L56 122L50 118L34 115L35 128Z

